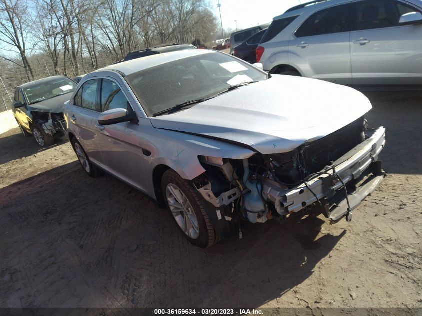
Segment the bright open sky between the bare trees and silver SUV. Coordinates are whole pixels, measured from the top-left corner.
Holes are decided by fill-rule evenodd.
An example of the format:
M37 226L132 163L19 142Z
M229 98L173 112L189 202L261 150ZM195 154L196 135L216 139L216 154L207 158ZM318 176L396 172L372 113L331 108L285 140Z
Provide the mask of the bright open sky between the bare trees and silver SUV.
M223 28L238 29L271 22L274 16L288 8L310 0L220 0ZM217 0L211 0L214 13L220 21Z

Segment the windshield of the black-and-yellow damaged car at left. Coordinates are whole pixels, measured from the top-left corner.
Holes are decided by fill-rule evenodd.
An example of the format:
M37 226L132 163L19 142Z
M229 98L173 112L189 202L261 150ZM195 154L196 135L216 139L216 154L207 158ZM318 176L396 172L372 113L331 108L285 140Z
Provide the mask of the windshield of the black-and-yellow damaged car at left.
M28 104L34 104L55 96L73 92L77 84L69 78L54 78L49 81L43 81L36 86L23 89Z

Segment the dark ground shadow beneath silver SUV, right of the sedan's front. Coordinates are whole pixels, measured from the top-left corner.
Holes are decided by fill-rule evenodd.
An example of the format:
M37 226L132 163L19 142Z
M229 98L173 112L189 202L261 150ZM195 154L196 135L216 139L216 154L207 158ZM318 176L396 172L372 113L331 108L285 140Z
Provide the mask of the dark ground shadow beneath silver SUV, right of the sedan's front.
M369 127L386 128L386 146L380 159L387 173L422 174L422 92L364 92L373 109Z

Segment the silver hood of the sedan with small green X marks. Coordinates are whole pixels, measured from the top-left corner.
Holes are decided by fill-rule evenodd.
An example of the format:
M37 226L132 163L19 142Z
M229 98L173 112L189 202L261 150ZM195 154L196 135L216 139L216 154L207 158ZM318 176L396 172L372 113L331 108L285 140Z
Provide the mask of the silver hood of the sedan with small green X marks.
M322 80L272 75L179 112L151 117L155 128L219 138L262 154L291 151L363 116L362 93Z

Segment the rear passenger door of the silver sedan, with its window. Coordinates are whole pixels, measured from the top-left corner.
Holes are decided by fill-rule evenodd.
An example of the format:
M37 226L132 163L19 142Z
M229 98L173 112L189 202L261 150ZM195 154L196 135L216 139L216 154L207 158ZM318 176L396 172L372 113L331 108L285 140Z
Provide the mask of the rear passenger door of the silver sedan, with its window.
M85 81L75 94L72 105L68 106L69 129L74 131L89 159L103 165L101 143L98 141L101 132L98 125L99 86L100 79Z

